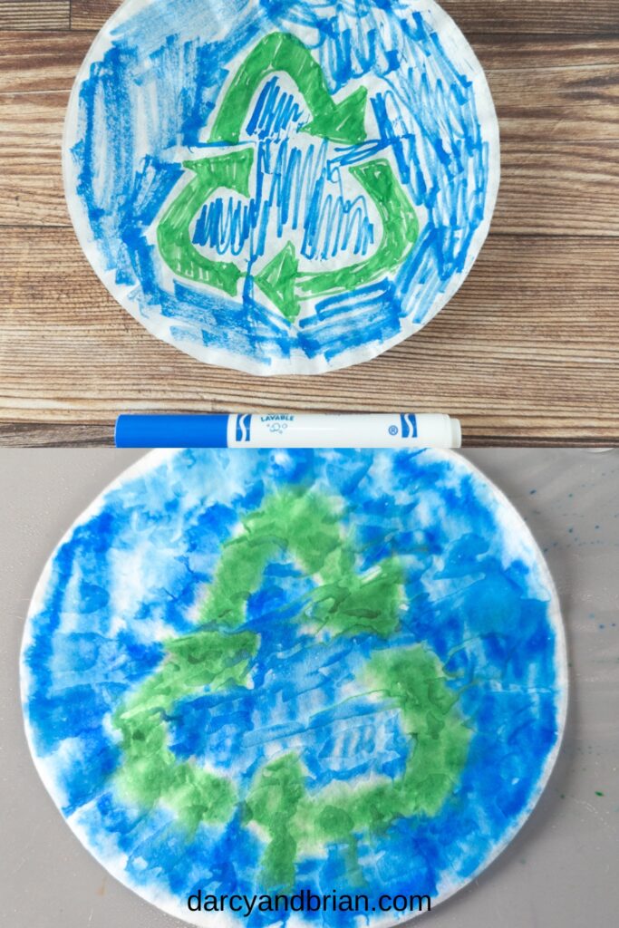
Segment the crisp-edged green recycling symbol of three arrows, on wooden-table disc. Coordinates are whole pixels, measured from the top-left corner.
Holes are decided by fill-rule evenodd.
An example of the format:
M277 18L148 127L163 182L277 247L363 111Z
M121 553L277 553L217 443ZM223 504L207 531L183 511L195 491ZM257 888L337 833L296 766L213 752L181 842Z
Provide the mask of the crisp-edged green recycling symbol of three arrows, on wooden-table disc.
M217 191L250 197L254 148L239 142L255 92L264 80L285 72L302 93L311 121L302 131L342 146L359 146L367 139L368 92L360 87L336 102L320 65L303 43L288 33L273 32L253 47L240 66L216 113L209 141L232 150L194 161L183 161L193 174L169 205L157 227L161 258L175 276L236 297L247 269L233 261L207 257L194 244L191 226ZM419 237L419 222L404 187L386 158L371 158L348 168L373 201L382 235L376 249L362 261L337 269L303 270L299 255L287 241L255 274L253 284L293 323L303 301L356 290L392 272L405 260Z

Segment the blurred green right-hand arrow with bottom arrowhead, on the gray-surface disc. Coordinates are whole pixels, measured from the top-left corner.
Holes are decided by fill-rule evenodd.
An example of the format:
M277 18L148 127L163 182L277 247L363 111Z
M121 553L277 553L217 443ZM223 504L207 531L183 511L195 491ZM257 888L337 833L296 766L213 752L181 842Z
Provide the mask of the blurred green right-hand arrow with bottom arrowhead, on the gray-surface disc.
M247 798L245 819L259 825L269 839L265 884L292 885L299 853L325 844L345 844L354 867L358 836L386 831L398 818L437 814L458 781L471 739L471 729L458 712L458 694L447 680L438 658L420 645L379 651L368 662L371 691L397 706L411 742L405 772L396 780L338 784L312 795L303 787L296 754L263 768Z

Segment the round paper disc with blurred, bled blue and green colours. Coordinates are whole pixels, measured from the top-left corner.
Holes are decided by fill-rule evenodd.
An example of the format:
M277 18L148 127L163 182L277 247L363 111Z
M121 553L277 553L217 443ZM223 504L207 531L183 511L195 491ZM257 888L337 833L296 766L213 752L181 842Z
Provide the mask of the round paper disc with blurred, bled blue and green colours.
M213 928L287 916L190 896L368 897L333 928L407 917L385 895L434 907L532 811L567 691L528 529L432 451L148 455L58 545L21 670L71 829Z

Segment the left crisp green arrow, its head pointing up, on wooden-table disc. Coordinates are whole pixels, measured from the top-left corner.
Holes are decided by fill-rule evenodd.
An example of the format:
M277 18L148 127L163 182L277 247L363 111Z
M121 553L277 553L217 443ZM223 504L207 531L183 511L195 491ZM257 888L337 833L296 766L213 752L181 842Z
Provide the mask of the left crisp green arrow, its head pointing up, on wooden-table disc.
M157 229L157 244L161 257L179 277L201 284L210 284L236 296L243 272L236 264L212 261L200 254L189 235L192 219L206 200L220 187L250 195L250 174L253 149L232 151L216 158L183 161L183 167L193 171L192 178L161 219Z

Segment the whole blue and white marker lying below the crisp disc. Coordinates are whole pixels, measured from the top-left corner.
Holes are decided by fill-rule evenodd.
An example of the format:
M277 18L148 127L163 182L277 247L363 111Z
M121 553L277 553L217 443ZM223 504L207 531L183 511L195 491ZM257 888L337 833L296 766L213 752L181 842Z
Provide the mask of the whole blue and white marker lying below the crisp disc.
M234 413L119 416L117 448L459 448L458 419L438 413Z

